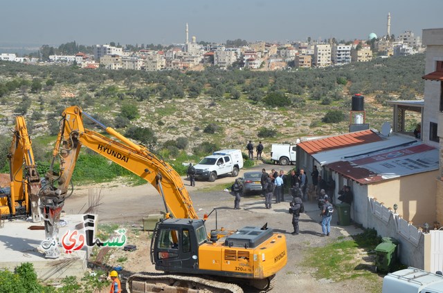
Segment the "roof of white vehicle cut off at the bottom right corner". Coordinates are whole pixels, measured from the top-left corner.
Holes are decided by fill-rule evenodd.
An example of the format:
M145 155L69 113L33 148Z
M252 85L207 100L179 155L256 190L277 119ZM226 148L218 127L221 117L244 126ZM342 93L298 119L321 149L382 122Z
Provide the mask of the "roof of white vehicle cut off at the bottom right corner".
M443 293L443 276L408 267L383 278L382 293Z

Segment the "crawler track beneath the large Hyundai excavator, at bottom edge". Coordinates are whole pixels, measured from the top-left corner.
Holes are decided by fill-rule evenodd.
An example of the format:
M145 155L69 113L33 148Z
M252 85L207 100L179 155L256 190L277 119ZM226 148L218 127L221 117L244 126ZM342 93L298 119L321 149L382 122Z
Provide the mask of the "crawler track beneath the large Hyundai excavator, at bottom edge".
M129 276L126 282L128 293L189 292L189 293L243 293L242 287L232 283L180 274L147 273Z

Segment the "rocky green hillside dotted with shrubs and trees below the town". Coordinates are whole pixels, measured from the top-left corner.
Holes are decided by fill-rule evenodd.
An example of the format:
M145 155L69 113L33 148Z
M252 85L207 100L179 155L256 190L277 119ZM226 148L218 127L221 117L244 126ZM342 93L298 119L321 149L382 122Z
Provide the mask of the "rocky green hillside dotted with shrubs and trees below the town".
M422 99L422 75L423 54L267 72L87 70L0 62L0 168L7 168L3 153L15 115L26 117L42 165L48 162L60 114L78 105L181 171L179 162L198 160L219 147L244 149L248 140L262 140L266 154L272 142L347 132L355 93L365 96L366 122L380 129L392 119L386 101Z

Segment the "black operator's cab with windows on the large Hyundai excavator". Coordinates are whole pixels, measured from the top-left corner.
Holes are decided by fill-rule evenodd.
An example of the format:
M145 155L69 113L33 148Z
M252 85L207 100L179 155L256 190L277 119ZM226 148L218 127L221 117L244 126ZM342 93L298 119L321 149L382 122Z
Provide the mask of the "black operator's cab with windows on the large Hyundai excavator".
M156 270L190 273L198 267L199 245L207 241L203 220L163 220L154 229L151 261Z

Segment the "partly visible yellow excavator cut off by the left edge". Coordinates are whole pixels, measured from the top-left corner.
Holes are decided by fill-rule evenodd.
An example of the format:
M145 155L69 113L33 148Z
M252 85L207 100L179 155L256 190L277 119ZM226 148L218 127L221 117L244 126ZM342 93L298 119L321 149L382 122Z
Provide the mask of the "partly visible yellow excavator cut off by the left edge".
M23 116L15 117L15 129L8 153L10 189L0 189L0 215L15 218L32 215L39 222L40 176Z

